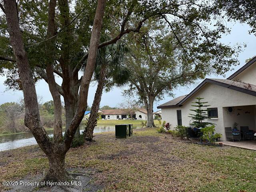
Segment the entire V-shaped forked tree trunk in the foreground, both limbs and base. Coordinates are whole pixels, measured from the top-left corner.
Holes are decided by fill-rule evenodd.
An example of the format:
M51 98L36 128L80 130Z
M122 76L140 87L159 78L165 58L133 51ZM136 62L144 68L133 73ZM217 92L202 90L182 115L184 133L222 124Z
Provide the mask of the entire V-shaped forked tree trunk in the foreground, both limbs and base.
M64 140L61 143L54 143L50 141L48 134L40 122L36 88L20 32L16 1L4 0L6 21L8 24L8 32L10 34L10 43L14 51L22 82L24 104L26 109L25 125L31 130L38 145L44 151L49 160L50 169L45 180L64 181L67 179L67 172L65 171L65 154L70 148L76 128L82 121L84 111L87 107L88 89L95 67L105 5L106 0L98 0L94 24L92 27L86 72L84 72L84 77L82 79L82 85L80 88L78 100L79 105L77 105L78 110L70 124L68 131L65 134Z

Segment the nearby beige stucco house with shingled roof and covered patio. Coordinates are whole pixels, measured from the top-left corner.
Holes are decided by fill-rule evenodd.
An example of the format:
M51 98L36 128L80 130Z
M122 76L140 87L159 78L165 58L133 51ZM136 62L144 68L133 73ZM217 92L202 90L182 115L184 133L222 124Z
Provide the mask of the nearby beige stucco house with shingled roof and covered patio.
M227 79L205 79L188 95L180 96L158 106L162 109L162 120L169 122L173 129L178 124L189 126L193 113L190 109L196 97L204 98L210 105L214 117L208 122L216 124L216 133L226 140L225 127L234 122L256 130L256 57ZM209 112L208 112L209 115Z

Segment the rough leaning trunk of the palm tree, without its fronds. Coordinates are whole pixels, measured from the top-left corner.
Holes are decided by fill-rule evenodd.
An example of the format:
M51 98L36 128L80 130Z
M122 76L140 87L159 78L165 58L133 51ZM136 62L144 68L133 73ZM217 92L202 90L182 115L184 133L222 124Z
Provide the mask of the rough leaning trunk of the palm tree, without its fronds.
M98 80L97 90L94 95L94 100L93 100L93 104L92 104L92 110L90 112L90 117L88 119L88 122L86 123L86 128L84 131L84 138L88 141L93 141L92 140L93 130L97 124L98 110L100 107L102 91L103 91L103 88L105 85L105 78L106 78L106 66L103 65L100 69L100 79Z

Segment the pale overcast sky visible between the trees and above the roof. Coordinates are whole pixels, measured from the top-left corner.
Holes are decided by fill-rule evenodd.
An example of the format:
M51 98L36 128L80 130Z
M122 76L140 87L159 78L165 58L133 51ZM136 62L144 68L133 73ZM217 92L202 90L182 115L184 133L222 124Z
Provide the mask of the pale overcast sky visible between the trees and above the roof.
M230 44L230 46L234 46L236 43L245 43L247 46L242 50L240 53L238 59L240 61L239 66L235 66L234 69L238 70L240 67L242 67L245 64L245 60L248 58L251 58L256 55L256 36L253 34L249 34L248 31L250 30L250 27L246 24L240 24L235 22L229 22L227 23L228 27L231 28L231 33L225 36L222 36L222 39L220 40L224 44ZM230 76L234 71L229 71L226 73L226 78ZM216 78L217 76L210 76L209 78ZM217 78L223 78L222 76L218 76ZM21 91L6 91L6 86L3 85L5 80L5 77L0 76L0 104L4 102L17 102L20 98L23 98L23 94ZM60 83L60 80L57 79L57 82ZM198 83L202 82L202 80L199 80ZM194 84L193 86L190 86L189 88L181 87L175 90L175 96L181 96L188 94L190 91L192 91L198 83ZM90 86L89 89L89 95L88 95L88 105L91 106L94 98L94 93L96 91L96 85ZM52 96L50 94L50 91L48 89L48 85L44 80L41 80L36 84L36 92L38 96L42 97L42 101L46 102L49 100L52 100ZM109 106L118 106L119 103L121 103L125 98L122 96L122 89L120 88L113 88L110 92L104 92L102 95L102 100L100 103L100 106L109 105ZM163 100L160 102L156 102L154 104L154 110L157 110L157 106L171 100L172 98L169 96L166 96Z

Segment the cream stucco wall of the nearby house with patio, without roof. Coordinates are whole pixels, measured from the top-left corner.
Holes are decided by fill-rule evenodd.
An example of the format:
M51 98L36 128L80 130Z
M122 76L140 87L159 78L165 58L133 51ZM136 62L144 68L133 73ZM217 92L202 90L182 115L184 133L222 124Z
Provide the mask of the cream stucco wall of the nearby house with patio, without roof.
M236 90L231 90L216 84L207 83L188 100L186 100L181 107L162 108L162 120L169 122L171 124L171 128L173 129L177 125L177 110L181 110L182 125L189 126L191 118L188 116L190 116L189 114L193 113L193 111L190 111L190 109L196 109L196 107L191 106L191 102L195 102L196 97L205 98L202 101L208 102L208 104L211 105L208 108L218 108L218 118L210 119L208 122L216 124L216 132L223 135L221 140L226 140L224 127L227 124L224 125L224 118L227 118L227 112L224 107L253 105L255 108L256 105L255 96L238 92ZM250 110L255 111L254 108L250 108ZM223 111L223 109L225 111ZM230 120L230 123L231 121L233 120ZM228 123L228 125L230 125L230 123ZM255 120L253 121L252 125L253 124L255 125ZM247 124L244 126L249 125Z

